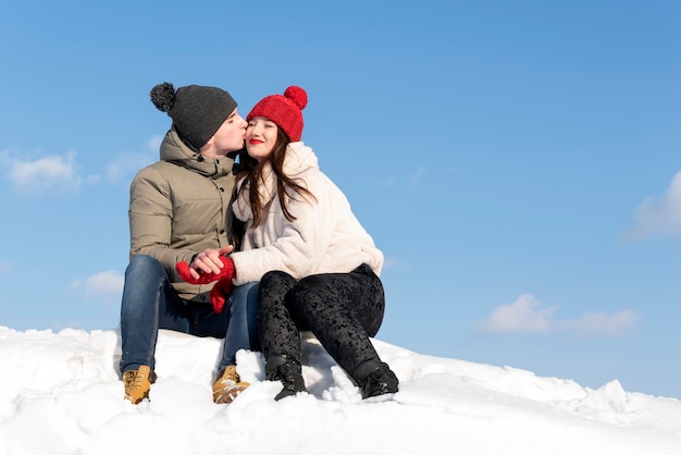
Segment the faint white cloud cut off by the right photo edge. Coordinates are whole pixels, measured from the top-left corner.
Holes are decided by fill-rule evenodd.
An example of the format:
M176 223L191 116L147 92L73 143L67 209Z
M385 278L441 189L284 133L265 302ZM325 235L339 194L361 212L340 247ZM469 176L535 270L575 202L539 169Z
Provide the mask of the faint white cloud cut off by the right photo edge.
M624 233L628 239L640 239L652 234L681 234L681 172L671 180L665 195L648 197L634 213L634 228Z

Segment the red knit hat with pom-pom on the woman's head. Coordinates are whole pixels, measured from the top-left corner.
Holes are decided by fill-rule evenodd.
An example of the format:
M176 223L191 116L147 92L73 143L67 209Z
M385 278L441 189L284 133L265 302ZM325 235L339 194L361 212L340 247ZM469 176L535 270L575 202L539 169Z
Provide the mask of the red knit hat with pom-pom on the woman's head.
M292 143L302 136L302 110L308 106L308 94L292 85L284 95L270 95L262 98L246 115L246 121L255 116L264 116L277 124Z

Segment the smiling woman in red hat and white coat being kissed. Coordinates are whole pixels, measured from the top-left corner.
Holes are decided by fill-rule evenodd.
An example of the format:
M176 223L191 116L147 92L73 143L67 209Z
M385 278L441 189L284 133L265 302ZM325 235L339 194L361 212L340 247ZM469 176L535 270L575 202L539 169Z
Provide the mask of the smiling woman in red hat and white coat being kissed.
M362 396L397 392L398 380L371 344L385 296L383 254L323 174L300 137L306 91L297 86L259 101L247 115L235 216L242 250L230 255L234 284L260 281L260 344L275 399L306 392L300 336L311 331L359 385Z

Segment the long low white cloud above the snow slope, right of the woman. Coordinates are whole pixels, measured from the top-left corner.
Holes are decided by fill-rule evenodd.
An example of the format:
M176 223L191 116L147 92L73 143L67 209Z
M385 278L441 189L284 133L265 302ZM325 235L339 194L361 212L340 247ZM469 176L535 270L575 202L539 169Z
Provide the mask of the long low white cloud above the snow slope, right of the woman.
M621 335L641 320L631 309L612 313L589 312L579 319L558 320L556 307L542 308L542 303L531 294L516 302L500 305L488 318L478 323L478 329L490 333L547 333L575 332L599 336Z

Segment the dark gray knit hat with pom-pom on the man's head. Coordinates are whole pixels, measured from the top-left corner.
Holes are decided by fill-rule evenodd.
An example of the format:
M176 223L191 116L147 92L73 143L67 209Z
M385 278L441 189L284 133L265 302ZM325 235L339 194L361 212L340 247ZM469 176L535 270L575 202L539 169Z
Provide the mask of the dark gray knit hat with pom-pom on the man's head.
M236 109L234 98L218 87L188 85L175 91L173 84L165 82L150 95L153 106L173 119L182 140L197 151Z

